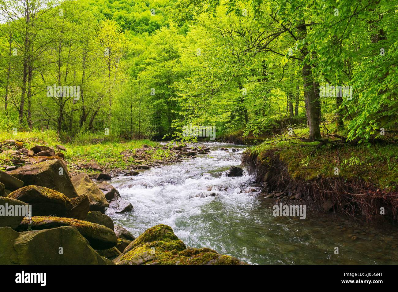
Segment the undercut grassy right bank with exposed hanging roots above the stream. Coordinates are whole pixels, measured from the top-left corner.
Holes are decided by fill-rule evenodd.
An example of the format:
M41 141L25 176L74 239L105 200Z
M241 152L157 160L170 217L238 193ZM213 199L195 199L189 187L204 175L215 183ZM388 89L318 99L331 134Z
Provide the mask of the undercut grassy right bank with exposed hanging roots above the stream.
M327 129L327 130L326 130ZM249 172L268 191L300 193L301 199L328 202L335 211L397 218L398 145L385 141L370 144L342 143L343 131L332 125L320 141L306 142L308 129L275 135L251 147L243 157ZM298 196L300 197L300 196Z

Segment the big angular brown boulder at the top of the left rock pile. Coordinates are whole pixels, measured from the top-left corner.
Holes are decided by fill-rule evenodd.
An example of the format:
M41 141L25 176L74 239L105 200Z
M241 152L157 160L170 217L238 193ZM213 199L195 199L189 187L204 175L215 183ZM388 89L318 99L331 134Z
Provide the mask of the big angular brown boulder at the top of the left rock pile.
M23 181L25 186L41 186L63 193L68 198L77 197L66 165L61 159L25 165L8 174ZM6 187L7 188L7 187Z

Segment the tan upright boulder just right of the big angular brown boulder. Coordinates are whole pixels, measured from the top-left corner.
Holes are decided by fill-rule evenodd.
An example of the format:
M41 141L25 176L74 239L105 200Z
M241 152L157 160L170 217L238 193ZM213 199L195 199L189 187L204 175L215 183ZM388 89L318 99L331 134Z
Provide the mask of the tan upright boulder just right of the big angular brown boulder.
M102 191L90 180L87 174L81 173L72 176L72 183L79 196L87 195L90 200L91 211L101 211L105 213L105 208L109 207L109 203Z

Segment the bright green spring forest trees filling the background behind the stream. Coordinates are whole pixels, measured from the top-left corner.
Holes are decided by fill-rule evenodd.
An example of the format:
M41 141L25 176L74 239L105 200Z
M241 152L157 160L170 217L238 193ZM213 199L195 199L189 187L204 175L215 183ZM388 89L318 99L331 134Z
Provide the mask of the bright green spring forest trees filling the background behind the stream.
M390 0L0 0L0 128L183 139L396 128ZM382 130L380 130L382 129Z

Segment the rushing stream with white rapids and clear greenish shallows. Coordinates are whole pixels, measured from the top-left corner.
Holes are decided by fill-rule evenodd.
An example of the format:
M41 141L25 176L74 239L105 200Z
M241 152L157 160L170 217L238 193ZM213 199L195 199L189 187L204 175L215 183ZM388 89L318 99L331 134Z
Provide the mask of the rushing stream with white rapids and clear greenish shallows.
M130 213L113 215L115 222L134 236L167 224L187 246L215 249L252 264L398 263L396 228L380 229L332 213L307 211L304 220L273 217L273 199L259 195L246 172L219 176L240 164L244 146L200 145L211 147L211 152L113 179L111 184L134 206Z

